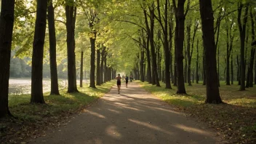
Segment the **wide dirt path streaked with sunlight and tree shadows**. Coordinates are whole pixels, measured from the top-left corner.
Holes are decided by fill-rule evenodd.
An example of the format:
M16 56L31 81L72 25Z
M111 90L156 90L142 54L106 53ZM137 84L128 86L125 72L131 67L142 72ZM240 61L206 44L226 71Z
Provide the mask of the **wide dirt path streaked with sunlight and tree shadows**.
M116 87L68 125L31 143L220 143L215 132L137 84Z

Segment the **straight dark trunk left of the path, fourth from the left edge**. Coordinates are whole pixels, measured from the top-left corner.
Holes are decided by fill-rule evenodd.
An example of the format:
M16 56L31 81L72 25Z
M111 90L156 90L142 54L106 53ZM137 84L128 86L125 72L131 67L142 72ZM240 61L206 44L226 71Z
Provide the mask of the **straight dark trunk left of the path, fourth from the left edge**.
M76 87L75 23L76 7L73 0L65 0L68 52L68 92L79 92Z

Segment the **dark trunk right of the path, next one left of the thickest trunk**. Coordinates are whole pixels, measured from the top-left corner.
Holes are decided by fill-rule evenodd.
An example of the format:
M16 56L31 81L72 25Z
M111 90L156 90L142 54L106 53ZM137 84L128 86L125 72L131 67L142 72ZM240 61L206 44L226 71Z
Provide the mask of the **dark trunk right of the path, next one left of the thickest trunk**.
M177 62L177 94L186 94L184 76L183 76L183 41L184 41L184 4L185 0L178 1L175 10L175 46L176 46L176 62ZM174 4L175 5L175 4Z

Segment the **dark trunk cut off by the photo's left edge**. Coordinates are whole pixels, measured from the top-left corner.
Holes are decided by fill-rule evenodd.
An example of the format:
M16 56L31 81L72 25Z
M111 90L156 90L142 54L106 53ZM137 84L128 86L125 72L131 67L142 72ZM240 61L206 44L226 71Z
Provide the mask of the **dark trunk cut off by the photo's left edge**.
M12 48L12 30L14 25L15 0L1 1L0 17L0 118L10 115L9 63Z

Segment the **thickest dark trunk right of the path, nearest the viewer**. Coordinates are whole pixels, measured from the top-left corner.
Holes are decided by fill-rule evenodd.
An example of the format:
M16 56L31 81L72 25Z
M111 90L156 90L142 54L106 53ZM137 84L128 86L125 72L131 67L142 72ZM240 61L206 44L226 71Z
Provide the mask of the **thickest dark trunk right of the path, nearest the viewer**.
M205 47L205 68L207 79L207 100L205 103L223 103L217 84L217 63L214 33L214 17L211 0L199 0L201 25Z

